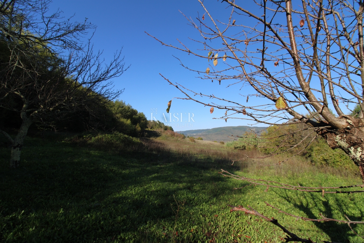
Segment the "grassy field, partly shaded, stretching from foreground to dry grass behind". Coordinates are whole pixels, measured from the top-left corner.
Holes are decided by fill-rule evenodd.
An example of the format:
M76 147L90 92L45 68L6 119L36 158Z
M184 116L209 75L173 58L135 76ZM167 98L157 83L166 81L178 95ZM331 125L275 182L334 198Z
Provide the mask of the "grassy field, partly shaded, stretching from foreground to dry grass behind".
M351 173L318 169L304 158L273 167L252 160L231 165L243 151L163 136L138 150L80 144L28 137L16 170L8 169L9 149L0 148L1 242L270 243L285 237L260 218L230 213L227 204L250 205L301 238L363 242L345 224L295 221L264 201L299 216L363 220L364 194L235 190L247 183L218 172L307 186L360 184ZM352 227L364 235L363 225Z

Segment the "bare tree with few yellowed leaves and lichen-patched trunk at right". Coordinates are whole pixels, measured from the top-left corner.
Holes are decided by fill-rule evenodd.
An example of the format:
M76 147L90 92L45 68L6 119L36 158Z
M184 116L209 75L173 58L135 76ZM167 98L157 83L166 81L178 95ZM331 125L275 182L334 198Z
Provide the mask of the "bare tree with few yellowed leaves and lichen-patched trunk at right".
M359 186L363 187L363 1L262 0L254 1L256 5L251 7L234 0L222 0L225 4L222 7L227 4L231 12L218 20L210 14L203 0L198 1L204 12L202 17L187 19L201 35L200 40L193 39L201 44L199 50L191 50L182 42L181 46L174 46L155 39L165 46L205 59L206 70L188 68L203 74L201 79L212 79L228 86L239 84L239 88L250 86L255 93L244 94L246 102L253 95L265 101L262 105L243 104L193 91L165 78L186 95L182 99L226 110L219 119L240 118L267 125L302 124L301 130L305 132L301 140L282 146L289 150L303 140L323 137L331 148L340 148L350 156L363 180ZM185 63L181 65L187 68ZM194 98L196 96L201 98ZM207 103L204 98L213 102ZM358 115L346 115L355 105L360 106ZM242 116L234 117L237 114ZM226 171L222 173L232 176ZM271 187L269 183L264 186ZM322 190L324 195L329 189L315 190ZM253 212L248 211L245 212Z

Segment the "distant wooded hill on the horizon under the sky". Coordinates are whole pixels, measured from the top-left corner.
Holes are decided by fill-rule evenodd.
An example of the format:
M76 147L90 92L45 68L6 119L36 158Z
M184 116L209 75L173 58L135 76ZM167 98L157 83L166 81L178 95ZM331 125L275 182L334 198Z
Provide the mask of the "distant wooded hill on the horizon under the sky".
M207 141L223 141L228 142L232 141L227 136L241 136L245 132L254 131L256 133L260 133L262 130L267 129L267 127L260 126L224 126L221 128L211 128L211 129L197 129L197 130L187 130L181 131L178 133L183 133L185 136L190 137L202 137L203 140Z

